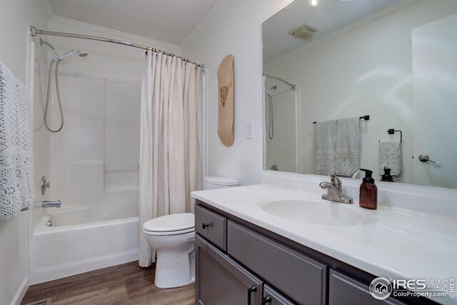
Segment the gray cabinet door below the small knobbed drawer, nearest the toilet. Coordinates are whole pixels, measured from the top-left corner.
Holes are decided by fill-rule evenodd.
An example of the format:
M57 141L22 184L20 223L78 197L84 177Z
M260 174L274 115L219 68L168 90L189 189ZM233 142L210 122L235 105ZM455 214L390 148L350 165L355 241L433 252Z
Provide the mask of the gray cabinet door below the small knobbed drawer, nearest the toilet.
M262 281L199 234L195 237L196 304L261 304Z

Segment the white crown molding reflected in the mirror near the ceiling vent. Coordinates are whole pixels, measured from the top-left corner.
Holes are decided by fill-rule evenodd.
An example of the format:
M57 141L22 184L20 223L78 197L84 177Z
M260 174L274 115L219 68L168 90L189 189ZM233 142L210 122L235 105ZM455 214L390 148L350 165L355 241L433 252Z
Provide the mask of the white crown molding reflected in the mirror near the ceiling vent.
M338 29L337 31L333 31L330 34L327 34L326 36L323 36L319 39L316 39L314 41L309 42L308 44L305 44L303 46L300 46L297 49L293 49L291 51L288 51L286 54L283 54L281 56L276 57L275 59L272 59L271 61L268 61L263 64L263 66L268 66L271 64L274 64L278 61L281 61L283 59L286 59L288 56L292 56L293 54L297 54L311 46L315 46L316 44L321 44L321 42L326 41L328 39L332 39L333 37L340 36L341 34L351 31L352 29L357 28L358 26L363 26L365 24L369 24L371 21L374 21L376 19L379 19L384 16L388 16L391 14L396 13L396 11L401 11L401 9L406 9L408 6L413 6L414 4L418 4L423 0L403 0L398 2L397 4L393 4L392 6L389 6L387 9L383 9L382 11L378 11L376 14L367 16L366 18L363 18L359 21L354 22L353 24L349 24L348 26L344 26L341 29Z

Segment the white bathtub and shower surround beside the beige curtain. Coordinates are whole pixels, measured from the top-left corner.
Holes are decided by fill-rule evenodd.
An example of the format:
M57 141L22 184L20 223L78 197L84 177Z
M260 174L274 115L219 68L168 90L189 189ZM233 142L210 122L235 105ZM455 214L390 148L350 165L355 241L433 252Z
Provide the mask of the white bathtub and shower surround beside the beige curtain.
M139 253L139 84L69 72L59 83L65 124L49 137L46 195L62 207L34 211L31 284L135 261ZM59 124L54 114L51 124Z

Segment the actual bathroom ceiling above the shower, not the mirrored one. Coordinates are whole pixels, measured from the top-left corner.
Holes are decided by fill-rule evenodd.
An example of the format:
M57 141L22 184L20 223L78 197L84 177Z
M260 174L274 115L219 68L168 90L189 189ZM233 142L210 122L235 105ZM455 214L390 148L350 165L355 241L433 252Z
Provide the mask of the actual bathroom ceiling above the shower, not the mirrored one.
M51 0L54 15L179 45L218 0Z

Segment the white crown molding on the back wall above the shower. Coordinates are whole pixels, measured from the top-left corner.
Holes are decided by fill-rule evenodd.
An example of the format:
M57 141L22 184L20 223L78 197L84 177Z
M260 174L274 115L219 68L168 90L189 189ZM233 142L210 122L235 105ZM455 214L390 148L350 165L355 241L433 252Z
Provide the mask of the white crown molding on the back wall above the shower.
M43 0L46 1L46 0ZM155 39L149 39L144 36L138 36L129 34L124 31L117 31L109 29L104 26L96 26L94 24L87 24L86 22L77 21L74 19L68 19L61 16L52 16L49 20L49 31L61 31L61 25L71 26L80 31L77 34L91 35L91 36L102 36L106 38L112 38L116 40L129 41L135 44L142 44L144 46L151 46L155 49L160 49L172 54L181 56L181 49L176 44L169 44L164 41ZM82 33L81 33L82 32Z

